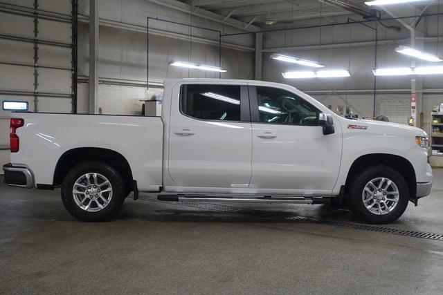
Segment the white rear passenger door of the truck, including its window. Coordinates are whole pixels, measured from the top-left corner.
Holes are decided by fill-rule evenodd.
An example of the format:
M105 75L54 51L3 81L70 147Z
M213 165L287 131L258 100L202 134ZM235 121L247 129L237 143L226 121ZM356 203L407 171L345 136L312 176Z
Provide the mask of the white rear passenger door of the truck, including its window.
M182 85L170 115L172 180L180 187L247 189L251 137L246 84Z

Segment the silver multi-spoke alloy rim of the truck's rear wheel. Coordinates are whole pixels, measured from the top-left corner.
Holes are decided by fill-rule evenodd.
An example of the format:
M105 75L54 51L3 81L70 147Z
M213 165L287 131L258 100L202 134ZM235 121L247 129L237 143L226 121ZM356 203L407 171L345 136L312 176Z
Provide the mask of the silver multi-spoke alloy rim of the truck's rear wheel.
M83 174L75 181L72 196L75 204L84 211L100 211L111 201L111 182L99 173Z

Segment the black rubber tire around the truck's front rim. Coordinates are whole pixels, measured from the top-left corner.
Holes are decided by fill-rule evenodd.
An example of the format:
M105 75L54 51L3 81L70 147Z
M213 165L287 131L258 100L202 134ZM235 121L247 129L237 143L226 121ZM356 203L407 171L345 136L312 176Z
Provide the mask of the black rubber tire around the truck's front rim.
M399 200L397 205L392 209L392 211L383 215L372 213L363 203L363 190L365 189L366 184L375 178L388 178L394 182L399 191ZM350 183L349 195L347 196L347 204L354 215L363 220L363 222L370 224L388 224L397 220L404 213L406 207L408 207L408 202L409 190L406 180L404 180L400 173L384 165L370 166L357 174Z

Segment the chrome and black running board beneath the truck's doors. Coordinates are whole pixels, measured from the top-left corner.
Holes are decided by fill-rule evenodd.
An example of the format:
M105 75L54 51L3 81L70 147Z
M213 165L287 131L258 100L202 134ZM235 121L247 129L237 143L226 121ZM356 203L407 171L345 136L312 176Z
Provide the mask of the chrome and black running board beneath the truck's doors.
M318 196L205 196L205 195L159 195L159 201L167 202L255 202L291 204L330 204L331 197Z

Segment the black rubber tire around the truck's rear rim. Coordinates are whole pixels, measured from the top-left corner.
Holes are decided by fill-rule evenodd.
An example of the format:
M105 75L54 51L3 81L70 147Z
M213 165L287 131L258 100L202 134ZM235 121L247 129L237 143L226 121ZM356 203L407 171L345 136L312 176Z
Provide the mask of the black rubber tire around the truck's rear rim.
M110 182L112 196L109 203L100 211L86 211L79 207L73 196L73 187L75 182L86 173L99 173ZM106 221L112 218L123 206L126 198L125 183L120 173L103 162L87 161L82 162L69 171L62 183L62 201L66 210L71 216L82 221ZM87 200L88 201L88 200ZM97 204L96 204L97 205Z

